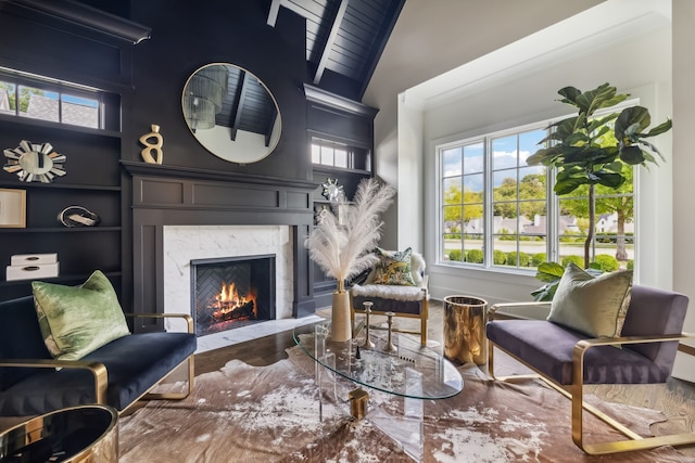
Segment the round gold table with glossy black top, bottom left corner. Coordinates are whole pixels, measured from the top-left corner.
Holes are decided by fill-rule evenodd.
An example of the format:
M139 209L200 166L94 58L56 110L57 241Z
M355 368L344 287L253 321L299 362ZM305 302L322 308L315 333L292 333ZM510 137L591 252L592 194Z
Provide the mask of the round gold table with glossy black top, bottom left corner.
M116 463L118 413L79 406L33 417L0 434L2 462Z

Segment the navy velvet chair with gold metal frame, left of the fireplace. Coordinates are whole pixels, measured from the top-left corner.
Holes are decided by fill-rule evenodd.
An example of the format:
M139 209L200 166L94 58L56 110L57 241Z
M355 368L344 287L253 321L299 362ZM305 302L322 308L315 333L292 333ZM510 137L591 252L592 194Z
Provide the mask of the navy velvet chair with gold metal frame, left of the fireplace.
M34 297L0 303L0 416L27 416L78 404L108 404L119 412L140 398L182 399L193 385L197 348L192 318L188 332L129 334L80 360L55 360L41 335ZM126 314L128 317L128 314ZM187 363L187 390L148 394Z

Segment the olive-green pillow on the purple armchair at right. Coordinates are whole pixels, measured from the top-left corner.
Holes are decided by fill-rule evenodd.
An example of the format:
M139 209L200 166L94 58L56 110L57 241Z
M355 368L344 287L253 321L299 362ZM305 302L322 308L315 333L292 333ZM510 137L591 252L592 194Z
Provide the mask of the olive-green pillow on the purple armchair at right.
M548 321L592 337L619 337L632 292L632 271L596 278L569 263L557 286Z

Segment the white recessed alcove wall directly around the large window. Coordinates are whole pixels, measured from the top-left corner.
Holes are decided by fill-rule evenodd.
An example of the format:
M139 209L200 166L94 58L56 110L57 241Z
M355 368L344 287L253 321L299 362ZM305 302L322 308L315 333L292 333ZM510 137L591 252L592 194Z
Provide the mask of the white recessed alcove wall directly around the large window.
M556 91L567 85L589 90L609 81L620 91L640 98L641 104L650 110L655 123L670 117L670 27L662 28L585 54L579 60L566 61L559 66L544 67L535 74L519 77L510 73L508 79L497 76L497 86L476 89L456 101L426 111L424 157L427 159L427 204L437 204L437 144L573 113L570 106L555 101L559 97ZM644 60L643 56L654 56L654 60ZM643 245L637 252L640 261L648 263L639 269L636 280L642 284L670 288L670 185L673 166L670 158L670 136L660 137L655 143L668 162L660 163L658 168L642 169L640 173L636 214ZM467 271L445 263L434 263L438 223L435 207L426 208L424 223L425 254L431 259L430 288L434 297L443 297L456 291L477 295L489 301L530 300L530 290L540 286L533 276L511 278L510 271ZM500 291L500 283L504 283L504 292Z

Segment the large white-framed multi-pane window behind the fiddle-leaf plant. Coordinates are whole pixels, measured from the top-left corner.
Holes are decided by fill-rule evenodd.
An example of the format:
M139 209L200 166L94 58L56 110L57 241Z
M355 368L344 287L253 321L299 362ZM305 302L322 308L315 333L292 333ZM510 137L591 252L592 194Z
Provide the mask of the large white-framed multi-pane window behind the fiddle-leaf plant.
M450 265L535 271L544 261L584 267L587 188L557 196L554 172L526 159L547 123L440 145L439 257ZM596 187L591 256L605 271L634 265L633 168L620 189Z

